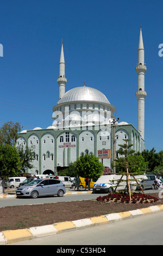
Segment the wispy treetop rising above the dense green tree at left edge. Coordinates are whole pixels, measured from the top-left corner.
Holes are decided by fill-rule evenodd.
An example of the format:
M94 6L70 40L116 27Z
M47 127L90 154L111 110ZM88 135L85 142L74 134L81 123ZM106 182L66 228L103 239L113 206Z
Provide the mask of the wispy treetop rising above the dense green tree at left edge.
M0 145L15 145L17 132L21 131L20 123L9 121L4 123L0 128Z

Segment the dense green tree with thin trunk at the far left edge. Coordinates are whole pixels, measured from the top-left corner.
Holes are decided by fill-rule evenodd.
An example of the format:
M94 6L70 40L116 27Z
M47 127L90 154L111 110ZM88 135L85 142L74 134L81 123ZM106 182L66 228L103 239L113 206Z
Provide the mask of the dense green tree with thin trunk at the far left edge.
M21 168L20 156L15 147L1 145L0 147L0 178L2 179L3 193L4 182L10 176L18 175Z

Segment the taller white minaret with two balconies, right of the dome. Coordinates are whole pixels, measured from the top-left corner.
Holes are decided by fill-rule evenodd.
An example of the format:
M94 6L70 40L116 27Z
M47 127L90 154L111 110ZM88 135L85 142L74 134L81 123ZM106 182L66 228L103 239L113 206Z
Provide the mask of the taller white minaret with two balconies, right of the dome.
M145 139L145 72L147 68L145 66L145 49L143 47L142 32L140 28L139 47L138 47L138 63L136 66L137 72L137 130L140 135Z

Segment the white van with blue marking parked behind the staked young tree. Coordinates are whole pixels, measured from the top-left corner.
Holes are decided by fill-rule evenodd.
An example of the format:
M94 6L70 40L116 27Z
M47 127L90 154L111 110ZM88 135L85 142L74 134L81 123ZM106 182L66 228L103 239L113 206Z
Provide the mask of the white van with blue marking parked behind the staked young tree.
M93 185L93 193L98 193L98 192L112 193L115 190L115 187L118 184L118 181L121 179L121 176L122 175L116 175L116 174L100 176L99 179ZM142 180L146 180L147 176L146 175L135 175L135 179L138 182L141 182ZM122 178L122 181L117 186L116 190L125 190L126 189L126 180L127 180L127 176L124 175ZM136 190L137 184L136 184L136 181L134 180L133 176L129 175L129 180L130 180L130 185L134 185L134 186L131 186L133 188L133 190Z

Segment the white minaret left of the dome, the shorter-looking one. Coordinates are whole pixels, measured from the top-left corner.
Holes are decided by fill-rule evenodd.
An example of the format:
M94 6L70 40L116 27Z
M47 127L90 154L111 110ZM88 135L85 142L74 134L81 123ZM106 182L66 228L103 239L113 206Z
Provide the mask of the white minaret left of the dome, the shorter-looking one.
M67 83L67 79L65 78L65 58L64 58L64 47L63 42L61 46L61 53L60 53L60 62L59 62L59 77L57 80L59 84L59 100L65 94L65 84Z

